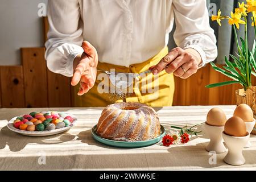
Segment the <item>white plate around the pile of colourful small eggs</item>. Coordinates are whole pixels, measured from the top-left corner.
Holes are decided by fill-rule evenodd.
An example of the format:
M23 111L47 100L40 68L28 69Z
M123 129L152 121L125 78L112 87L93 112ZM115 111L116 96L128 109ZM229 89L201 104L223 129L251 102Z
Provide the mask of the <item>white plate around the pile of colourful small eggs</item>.
M62 112L63 113L63 112ZM14 117L13 119L11 119L9 122L8 122L8 125L7 127L11 130L11 131L14 131L15 133L19 133L19 134L22 134L22 135L26 135L26 136L31 136L31 137L46 137L46 136L51 136L51 135L56 135L56 134L59 134L59 133L63 133L64 131L67 131L69 129L71 129L72 126L74 126L74 123L76 122L77 118L75 117L75 115L73 114L68 114L68 113L65 113L67 115L70 115L72 118L74 118L74 121L71 125L67 126L67 127L63 127L62 129L55 129L55 130L44 130L44 131L24 131L24 130L19 130L19 129L16 129L14 126L13 126L13 122L15 121L15 119L17 117L20 117L20 116L16 116Z

